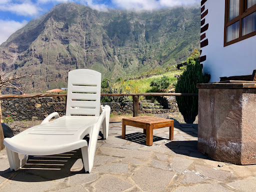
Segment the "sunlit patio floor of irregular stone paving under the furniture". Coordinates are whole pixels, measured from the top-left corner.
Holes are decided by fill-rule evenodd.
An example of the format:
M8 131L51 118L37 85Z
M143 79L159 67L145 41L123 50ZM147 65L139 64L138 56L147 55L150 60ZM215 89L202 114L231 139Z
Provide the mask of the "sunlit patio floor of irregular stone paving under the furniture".
M10 171L2 150L0 191L255 191L256 165L214 161L197 151L197 124L174 126L174 140L160 128L146 146L142 129L126 126L124 140L121 123L110 123L89 174L79 150L30 156L18 171Z

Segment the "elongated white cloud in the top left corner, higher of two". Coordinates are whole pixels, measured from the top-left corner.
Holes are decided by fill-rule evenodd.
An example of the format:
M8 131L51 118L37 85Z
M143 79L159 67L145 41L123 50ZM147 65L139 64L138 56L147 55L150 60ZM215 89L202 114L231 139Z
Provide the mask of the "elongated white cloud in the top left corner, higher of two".
M11 3L7 2L5 0L5 3L0 3L0 10L2 11L10 11L14 12L18 15L24 15L24 16L34 16L38 14L38 11L40 10L39 7L36 7L34 4L30 2L24 2L24 3Z

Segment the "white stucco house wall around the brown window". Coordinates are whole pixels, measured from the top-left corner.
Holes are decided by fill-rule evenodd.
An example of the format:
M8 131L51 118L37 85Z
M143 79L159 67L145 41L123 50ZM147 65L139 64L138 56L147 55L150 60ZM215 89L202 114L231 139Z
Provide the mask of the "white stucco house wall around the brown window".
M208 45L201 48L201 56L206 55L203 72L211 75L210 82L219 81L220 76L252 74L256 69L256 35L223 47L225 0L207 0L204 5L209 27L205 31Z

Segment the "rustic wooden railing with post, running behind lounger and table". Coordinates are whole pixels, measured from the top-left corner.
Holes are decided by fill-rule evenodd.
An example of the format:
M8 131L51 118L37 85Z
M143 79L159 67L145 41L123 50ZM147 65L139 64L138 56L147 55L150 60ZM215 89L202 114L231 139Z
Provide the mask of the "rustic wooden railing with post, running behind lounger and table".
M33 98L33 97L57 97L65 96L66 94L51 94L51 93L30 93L30 94L0 94L0 99L11 98ZM166 93L166 92L145 92L145 93L101 93L101 96L132 96L133 116L138 116L138 101L139 96L198 96L198 93Z

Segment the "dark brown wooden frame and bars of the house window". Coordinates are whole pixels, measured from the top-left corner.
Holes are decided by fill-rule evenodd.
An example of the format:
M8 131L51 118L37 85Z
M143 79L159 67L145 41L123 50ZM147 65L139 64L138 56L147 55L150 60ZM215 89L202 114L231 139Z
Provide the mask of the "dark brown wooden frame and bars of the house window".
M256 35L256 31L250 32L248 34L245 34L242 36L242 18L244 18L245 16L251 14L252 12L256 11L256 4L254 4L253 6L249 7L249 8L245 8L246 7L246 2L247 0L239 0L239 15L234 17L231 20L228 20L228 15L229 15L229 0L225 0L225 21L224 21L224 46L233 44L235 42L244 40L246 38L249 38L251 36ZM226 28L227 26L235 23L239 21L239 37L235 38L233 40L230 40L228 42L226 42Z

